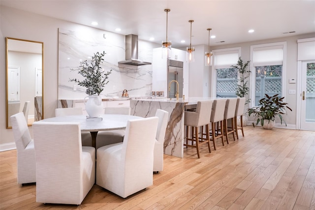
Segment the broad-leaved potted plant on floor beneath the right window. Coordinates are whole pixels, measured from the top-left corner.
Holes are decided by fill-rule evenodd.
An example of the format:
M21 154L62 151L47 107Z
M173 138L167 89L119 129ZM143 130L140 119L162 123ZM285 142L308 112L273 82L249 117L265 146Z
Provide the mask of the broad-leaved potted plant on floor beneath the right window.
M279 98L279 94L273 96L265 95L266 97L259 100L258 107L248 109L248 113L249 116L253 114L254 118L257 119L256 125L260 122L263 128L272 129L275 126L275 118L279 117L282 124L284 121L282 115L284 115L285 109L287 108L290 111L292 109L283 101L284 97ZM252 125L255 126L254 123Z

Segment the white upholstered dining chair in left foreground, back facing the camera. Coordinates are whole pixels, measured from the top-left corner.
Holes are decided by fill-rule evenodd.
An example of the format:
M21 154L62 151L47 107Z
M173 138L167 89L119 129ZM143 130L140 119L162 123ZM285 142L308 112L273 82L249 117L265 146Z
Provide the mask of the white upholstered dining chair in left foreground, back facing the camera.
M95 183L95 148L82 147L77 122L33 123L36 202L80 205Z

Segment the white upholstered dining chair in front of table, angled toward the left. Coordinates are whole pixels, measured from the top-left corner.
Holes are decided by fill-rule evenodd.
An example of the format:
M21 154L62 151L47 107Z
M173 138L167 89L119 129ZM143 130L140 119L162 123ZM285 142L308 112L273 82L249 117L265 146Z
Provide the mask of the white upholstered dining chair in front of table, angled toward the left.
M96 184L126 198L153 184L158 117L129 120L122 143L96 151Z

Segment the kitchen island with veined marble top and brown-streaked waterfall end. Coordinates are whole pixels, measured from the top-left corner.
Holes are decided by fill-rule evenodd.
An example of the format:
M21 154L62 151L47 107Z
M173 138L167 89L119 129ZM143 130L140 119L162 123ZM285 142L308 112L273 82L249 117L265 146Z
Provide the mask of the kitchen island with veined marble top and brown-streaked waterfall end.
M157 109L168 112L168 123L164 138L164 153L176 157L183 157L184 153L184 111L197 104L198 101L215 100L210 97L180 98L152 98L130 100L131 115L147 118L153 117Z

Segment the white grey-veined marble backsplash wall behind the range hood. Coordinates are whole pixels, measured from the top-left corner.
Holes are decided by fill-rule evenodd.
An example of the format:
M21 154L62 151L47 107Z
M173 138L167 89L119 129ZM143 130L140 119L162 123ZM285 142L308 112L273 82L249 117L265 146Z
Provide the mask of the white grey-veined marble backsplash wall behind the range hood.
M69 79L83 77L70 69L80 65L81 60L91 60L96 52L105 51L102 67L107 72L108 84L101 93L102 98L121 96L124 89L129 96L151 96L152 65L133 66L118 64L125 60L125 36L104 30L84 27L84 30L59 29L58 99L83 99L85 88ZM139 40L138 59L152 62L152 49L156 44ZM76 90L74 90L76 85Z

